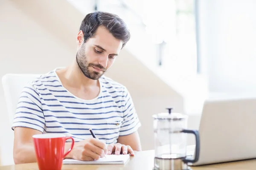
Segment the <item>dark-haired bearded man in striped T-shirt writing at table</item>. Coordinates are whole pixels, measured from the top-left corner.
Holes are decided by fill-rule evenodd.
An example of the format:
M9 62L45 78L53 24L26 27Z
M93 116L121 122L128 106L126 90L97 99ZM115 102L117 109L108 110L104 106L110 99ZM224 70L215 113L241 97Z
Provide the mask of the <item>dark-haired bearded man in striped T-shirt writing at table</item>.
M12 129L15 164L35 162L32 135L63 133L76 143L66 158L97 160L140 151L140 121L125 86L103 74L130 39L125 23L105 12L87 14L67 68L30 81L20 95ZM92 138L92 128L97 139ZM71 142L66 142L65 151Z

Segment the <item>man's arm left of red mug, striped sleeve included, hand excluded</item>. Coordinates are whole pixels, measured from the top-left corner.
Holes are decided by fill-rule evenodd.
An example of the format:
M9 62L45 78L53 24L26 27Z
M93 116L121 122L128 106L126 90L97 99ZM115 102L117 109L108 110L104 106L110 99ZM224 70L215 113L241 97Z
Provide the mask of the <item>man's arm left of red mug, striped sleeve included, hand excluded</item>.
M32 135L43 133L44 126L45 120L40 96L37 90L28 84L20 94L12 125L15 164L36 161Z

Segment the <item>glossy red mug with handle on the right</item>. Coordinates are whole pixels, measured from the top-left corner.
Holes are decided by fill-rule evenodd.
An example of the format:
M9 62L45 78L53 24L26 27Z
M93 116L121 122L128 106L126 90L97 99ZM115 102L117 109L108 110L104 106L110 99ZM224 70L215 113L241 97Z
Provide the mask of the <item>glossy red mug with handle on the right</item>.
M32 137L39 170L61 170L63 159L73 149L74 139L54 133L38 134ZM64 153L67 139L71 139L72 144L67 153Z

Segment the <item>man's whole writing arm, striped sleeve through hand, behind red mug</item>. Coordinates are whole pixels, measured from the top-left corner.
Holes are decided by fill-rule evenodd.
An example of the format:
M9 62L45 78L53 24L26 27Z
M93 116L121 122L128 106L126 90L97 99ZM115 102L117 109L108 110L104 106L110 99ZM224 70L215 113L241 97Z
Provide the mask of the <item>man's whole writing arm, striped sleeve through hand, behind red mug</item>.
M42 134L45 128L44 113L40 96L32 85L23 88L17 105L12 129L14 130L13 158L15 164L36 162L32 136ZM64 152L71 143L65 143ZM94 160L105 156L105 143L96 139L76 142L66 158Z

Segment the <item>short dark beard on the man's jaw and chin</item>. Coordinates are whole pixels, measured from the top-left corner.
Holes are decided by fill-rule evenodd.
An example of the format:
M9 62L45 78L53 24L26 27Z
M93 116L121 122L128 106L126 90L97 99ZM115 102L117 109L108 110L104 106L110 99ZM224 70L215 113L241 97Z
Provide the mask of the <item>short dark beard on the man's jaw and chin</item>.
M76 62L77 62L80 70L82 71L82 73L84 74L85 77L87 77L89 79L97 80L100 77L102 77L102 75L106 72L106 68L103 67L100 64L88 63L86 55L82 52L82 51L84 51L83 49L84 48L82 47L81 50L79 50L77 52L77 54L76 54ZM102 71L101 72L90 71L89 70L90 67L98 68L98 69L100 69Z

